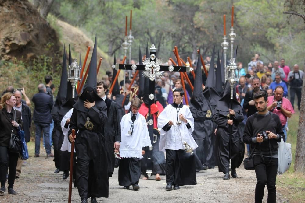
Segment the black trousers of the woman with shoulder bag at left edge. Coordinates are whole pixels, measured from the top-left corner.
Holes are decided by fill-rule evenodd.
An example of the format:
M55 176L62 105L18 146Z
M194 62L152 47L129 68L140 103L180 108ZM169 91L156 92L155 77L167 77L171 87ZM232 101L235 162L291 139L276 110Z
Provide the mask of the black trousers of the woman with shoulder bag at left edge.
M8 147L0 146L0 181L5 186L7 169L9 168L9 188L13 187L19 153L12 153Z

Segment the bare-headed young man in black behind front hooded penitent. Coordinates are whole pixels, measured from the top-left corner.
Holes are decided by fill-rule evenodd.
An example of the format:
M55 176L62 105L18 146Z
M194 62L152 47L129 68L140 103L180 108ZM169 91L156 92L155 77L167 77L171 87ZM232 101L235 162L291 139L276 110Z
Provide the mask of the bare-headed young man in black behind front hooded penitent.
M108 176L112 177L114 170L114 148L119 150L121 142L120 118L118 116L117 103L107 98L105 93L108 86L104 81L98 81L96 90L99 97L105 100L107 106L107 121L105 123L104 135L108 159Z

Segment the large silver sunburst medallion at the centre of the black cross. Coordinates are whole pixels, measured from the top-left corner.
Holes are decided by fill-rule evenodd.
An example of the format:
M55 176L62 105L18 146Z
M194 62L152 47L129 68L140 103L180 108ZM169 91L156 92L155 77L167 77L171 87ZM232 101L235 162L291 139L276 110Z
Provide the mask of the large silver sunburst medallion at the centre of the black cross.
M155 61L150 61L149 58L145 58L143 61L145 65L145 71L143 71L143 76L148 77L149 80L154 81L162 76L162 72L160 71L160 65L163 64L160 58L156 58Z

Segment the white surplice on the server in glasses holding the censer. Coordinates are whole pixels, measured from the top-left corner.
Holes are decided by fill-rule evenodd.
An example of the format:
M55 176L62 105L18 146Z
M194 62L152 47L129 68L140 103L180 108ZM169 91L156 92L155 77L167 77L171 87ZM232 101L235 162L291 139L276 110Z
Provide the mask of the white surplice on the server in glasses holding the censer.
M177 126L177 112L182 114L188 121L191 128L187 128L186 124L182 122L181 125ZM173 121L169 131L164 131L162 128L168 124L169 121ZM185 149L183 142L187 142L193 149L197 148L192 132L194 130L194 118L188 106L183 105L182 108L175 108L171 104L167 105L161 114L158 116L158 129L160 131L160 151L165 152L165 149L179 150Z

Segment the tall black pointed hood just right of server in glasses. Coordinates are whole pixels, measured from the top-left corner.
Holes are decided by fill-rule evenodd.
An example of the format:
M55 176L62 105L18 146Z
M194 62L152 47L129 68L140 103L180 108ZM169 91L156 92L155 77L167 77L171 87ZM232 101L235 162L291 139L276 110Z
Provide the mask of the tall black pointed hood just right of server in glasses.
M210 110L202 92L202 69L200 60L200 50L197 60L194 91L189 108L192 112L193 117L197 120L205 119L207 111Z

